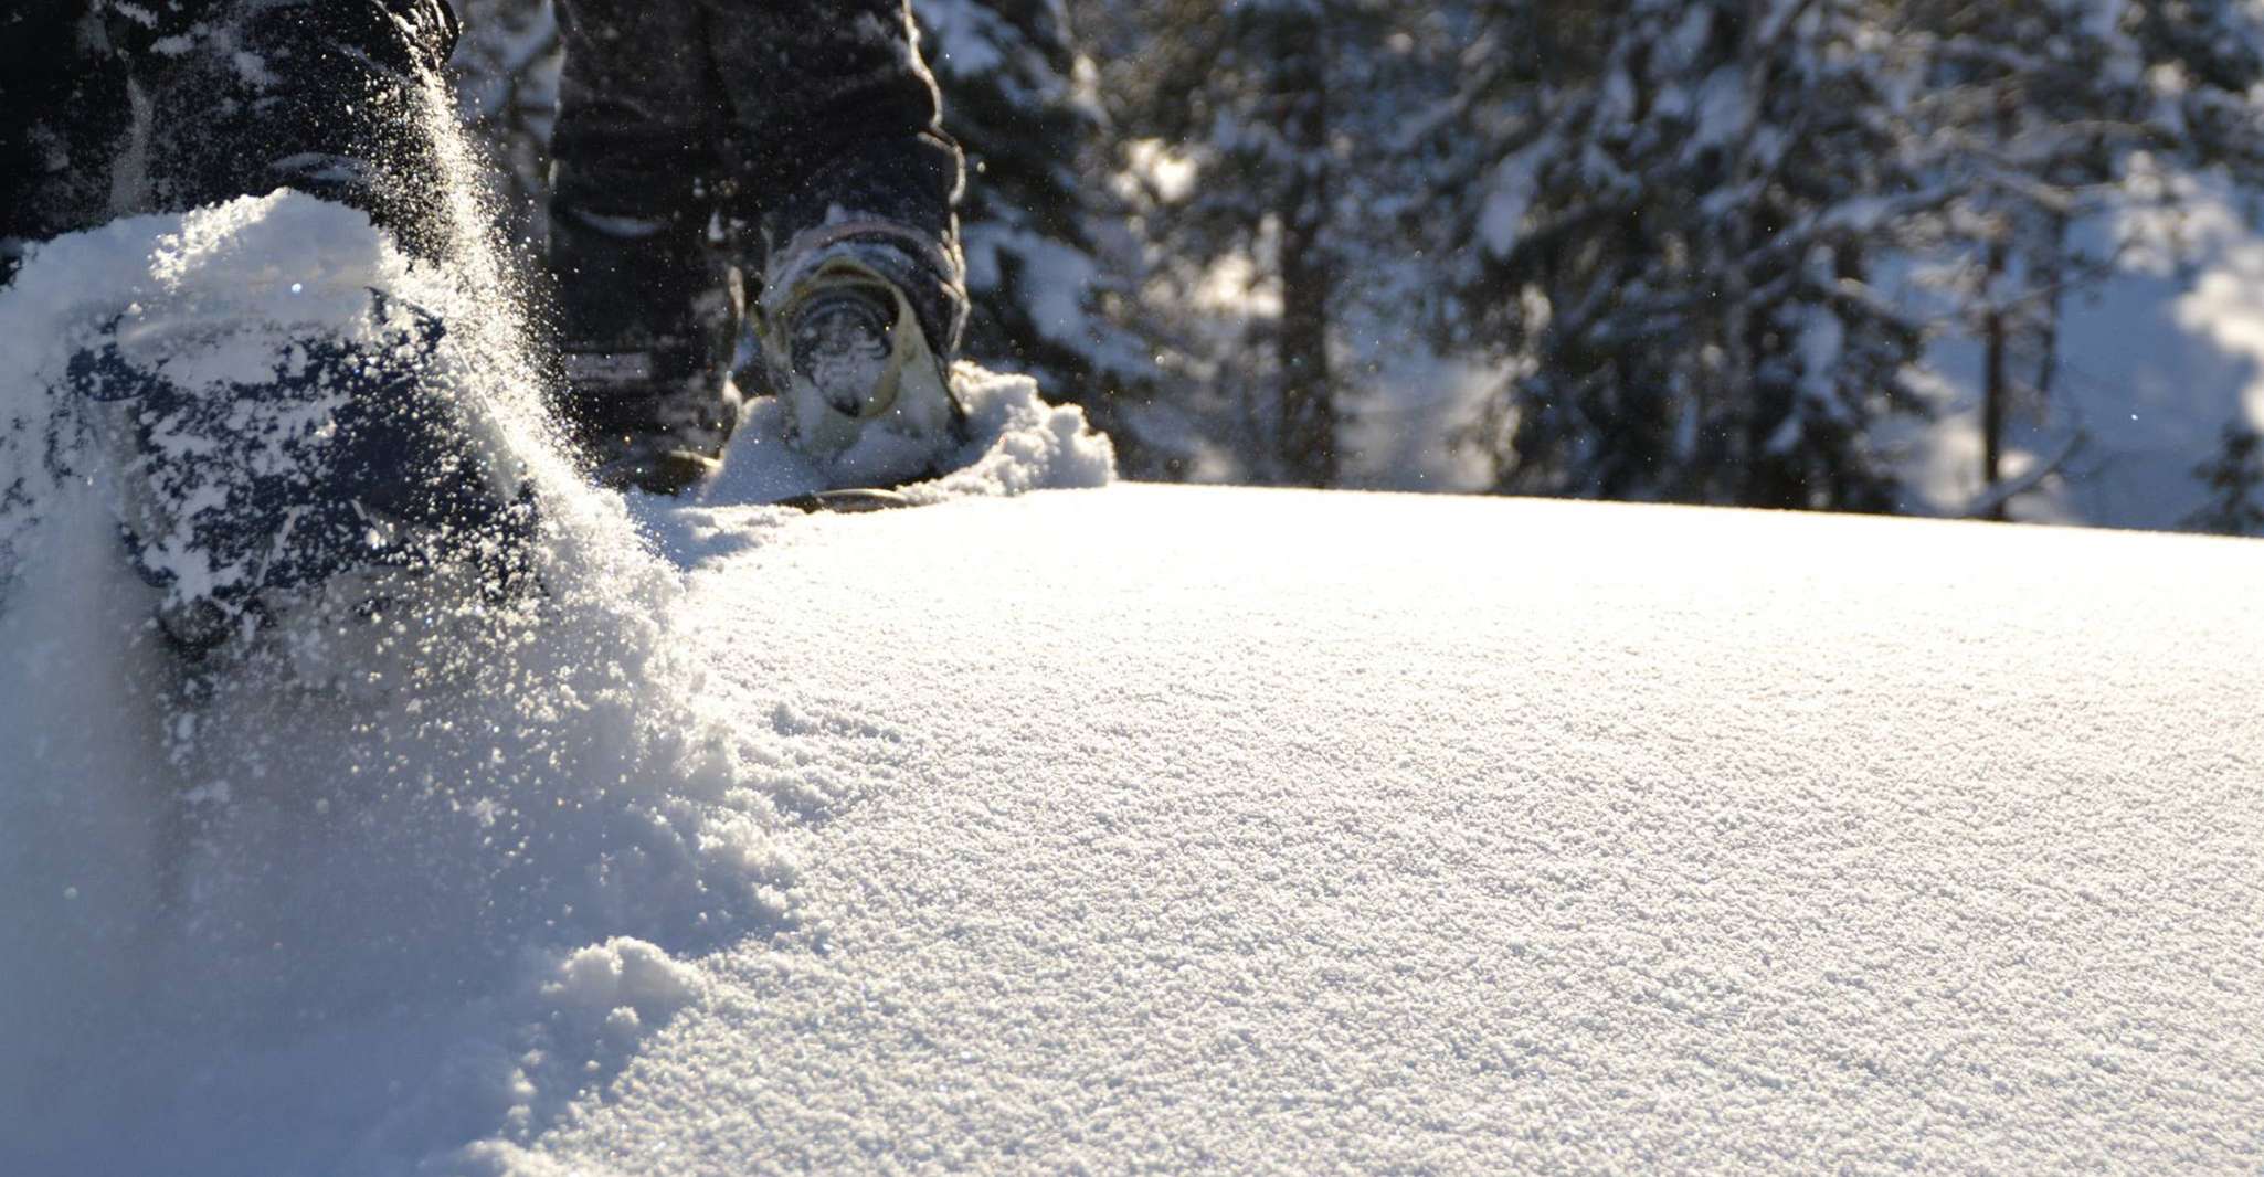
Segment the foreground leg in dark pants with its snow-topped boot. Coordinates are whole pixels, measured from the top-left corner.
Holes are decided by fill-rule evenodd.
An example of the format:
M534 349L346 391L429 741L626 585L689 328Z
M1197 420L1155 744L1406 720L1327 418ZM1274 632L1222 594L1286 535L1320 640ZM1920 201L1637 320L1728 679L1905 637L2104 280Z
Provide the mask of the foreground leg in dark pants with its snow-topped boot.
M523 480L478 419L466 346L403 297L446 290L466 247L439 81L448 5L75 7L86 20L32 25L41 41L5 61L36 84L11 118L86 152L41 156L23 217L0 226L52 238L29 247L20 299L43 297L23 285L38 267L57 287L61 256L127 258L113 303L84 281L57 287L84 301L57 319L68 360L41 385L79 430L70 459L93 462L75 473L113 491L165 632L201 650L333 584L362 602L344 584L360 573L401 586L464 570L518 591ZM106 199L77 199L95 181ZM149 220L100 229L120 215Z

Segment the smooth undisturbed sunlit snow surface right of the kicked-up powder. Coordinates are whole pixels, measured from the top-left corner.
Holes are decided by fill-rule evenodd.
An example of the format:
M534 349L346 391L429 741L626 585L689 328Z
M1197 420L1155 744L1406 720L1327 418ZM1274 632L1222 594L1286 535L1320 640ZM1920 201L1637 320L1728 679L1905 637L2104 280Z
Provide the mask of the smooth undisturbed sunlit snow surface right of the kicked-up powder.
M532 1175L2264 1159L2259 545L1161 487L679 521L781 919L260 1007L213 1132Z

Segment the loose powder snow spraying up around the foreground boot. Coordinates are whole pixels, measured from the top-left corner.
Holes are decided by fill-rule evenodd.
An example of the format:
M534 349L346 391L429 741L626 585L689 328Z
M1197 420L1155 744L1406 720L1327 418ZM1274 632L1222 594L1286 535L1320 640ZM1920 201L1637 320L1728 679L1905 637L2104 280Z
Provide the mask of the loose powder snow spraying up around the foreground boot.
M652 942L792 921L799 785L704 711L679 577L555 450L464 274L276 192L61 238L0 292L0 1172L398 1172L541 1123L681 1007ZM70 355L115 337L220 394L374 340L371 290L451 326L448 389L539 491L543 591L437 570L186 668L120 541L140 441ZM240 416L283 428L326 437ZM242 579L188 557L177 584Z

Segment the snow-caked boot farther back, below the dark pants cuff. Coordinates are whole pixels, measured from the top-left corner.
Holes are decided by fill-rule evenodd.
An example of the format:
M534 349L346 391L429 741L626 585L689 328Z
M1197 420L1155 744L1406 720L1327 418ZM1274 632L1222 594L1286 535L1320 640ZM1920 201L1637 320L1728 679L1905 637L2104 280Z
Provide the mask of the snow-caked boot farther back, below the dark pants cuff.
M833 249L763 301L763 355L788 441L835 484L937 473L967 439L946 362L903 287L874 265L876 249Z

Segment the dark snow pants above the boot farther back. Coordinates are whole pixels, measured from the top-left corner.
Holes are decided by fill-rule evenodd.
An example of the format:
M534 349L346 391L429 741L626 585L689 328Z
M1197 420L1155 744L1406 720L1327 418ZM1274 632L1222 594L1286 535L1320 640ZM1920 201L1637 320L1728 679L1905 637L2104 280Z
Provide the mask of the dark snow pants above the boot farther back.
M863 242L935 355L967 319L960 149L908 0L557 0L550 260L568 362L645 351L623 387L577 380L584 426L636 426L636 385L729 362L747 285ZM711 226L724 251L711 247ZM758 292L756 292L758 294ZM609 398L616 398L609 403Z

